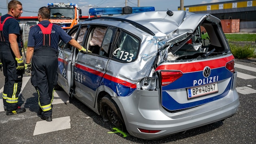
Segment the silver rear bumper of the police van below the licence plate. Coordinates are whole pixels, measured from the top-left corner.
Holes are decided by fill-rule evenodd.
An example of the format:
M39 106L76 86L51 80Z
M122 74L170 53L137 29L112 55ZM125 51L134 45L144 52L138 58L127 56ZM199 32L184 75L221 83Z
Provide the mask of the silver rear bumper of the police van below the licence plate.
M232 89L225 97L182 112L170 113L161 106L159 91L136 90L127 97L113 98L123 115L128 132L141 139L158 139L180 131L214 123L234 115L239 107L239 95ZM139 129L161 130L143 133Z

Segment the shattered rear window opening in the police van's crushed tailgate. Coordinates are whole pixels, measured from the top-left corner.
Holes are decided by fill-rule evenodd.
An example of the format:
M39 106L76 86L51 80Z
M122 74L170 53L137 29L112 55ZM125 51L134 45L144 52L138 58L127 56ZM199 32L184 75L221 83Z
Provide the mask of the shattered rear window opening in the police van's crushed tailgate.
M221 27L205 20L193 33L166 45L161 52L163 61L196 60L230 53L230 48ZM166 55L167 53L167 55Z

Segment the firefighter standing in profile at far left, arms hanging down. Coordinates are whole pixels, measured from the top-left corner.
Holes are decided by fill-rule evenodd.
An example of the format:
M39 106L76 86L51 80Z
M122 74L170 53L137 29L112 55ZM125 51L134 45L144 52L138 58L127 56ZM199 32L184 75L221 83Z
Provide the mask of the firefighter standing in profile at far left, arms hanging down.
M8 4L8 13L0 17L0 58L5 76L2 97L7 115L26 111L25 108L18 106L24 62L21 53L20 25L15 18L20 17L22 13L22 3L11 0Z

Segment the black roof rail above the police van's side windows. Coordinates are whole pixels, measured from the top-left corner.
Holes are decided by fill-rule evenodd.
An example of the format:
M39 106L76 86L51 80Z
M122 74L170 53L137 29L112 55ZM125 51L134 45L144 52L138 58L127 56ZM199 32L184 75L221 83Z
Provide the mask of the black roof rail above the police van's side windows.
M117 20L117 21L125 21L132 25L135 25L136 28L139 28L139 29L143 30L144 32L147 32L148 34L155 36L154 32L152 32L150 29L146 28L145 26L143 26L139 23L136 23L135 21L131 21L128 19L122 19L122 18L118 18L118 17L93 17L90 19L86 19L85 21L91 21L93 19L111 19L111 20Z

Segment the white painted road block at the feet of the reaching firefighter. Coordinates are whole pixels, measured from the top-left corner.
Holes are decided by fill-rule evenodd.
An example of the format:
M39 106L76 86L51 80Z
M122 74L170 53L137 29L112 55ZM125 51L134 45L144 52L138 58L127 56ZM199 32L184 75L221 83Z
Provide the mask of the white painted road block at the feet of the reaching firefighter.
M70 129L70 116L52 119L52 121L38 121L35 125L34 134L39 135L42 133L49 133L52 131L59 131L63 129Z

